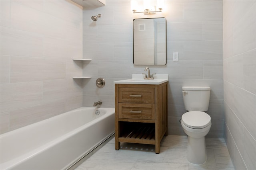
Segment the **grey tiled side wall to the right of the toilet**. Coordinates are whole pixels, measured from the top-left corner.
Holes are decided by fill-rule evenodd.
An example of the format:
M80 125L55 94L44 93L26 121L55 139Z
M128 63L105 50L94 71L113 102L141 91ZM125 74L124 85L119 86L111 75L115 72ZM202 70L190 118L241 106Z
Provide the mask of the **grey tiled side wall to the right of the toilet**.
M256 169L256 1L223 1L225 138L236 169Z

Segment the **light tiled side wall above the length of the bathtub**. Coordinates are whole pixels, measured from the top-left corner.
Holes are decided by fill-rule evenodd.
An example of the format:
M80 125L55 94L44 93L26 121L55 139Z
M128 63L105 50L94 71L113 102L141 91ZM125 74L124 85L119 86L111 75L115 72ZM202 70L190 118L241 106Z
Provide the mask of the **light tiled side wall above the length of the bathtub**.
M82 106L82 8L1 0L1 133Z

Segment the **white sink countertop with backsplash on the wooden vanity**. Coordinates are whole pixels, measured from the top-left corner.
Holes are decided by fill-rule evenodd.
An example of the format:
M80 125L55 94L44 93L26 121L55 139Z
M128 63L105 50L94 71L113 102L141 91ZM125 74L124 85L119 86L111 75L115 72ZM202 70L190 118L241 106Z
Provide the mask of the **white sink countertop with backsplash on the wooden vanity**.
M144 74L132 74L131 79L115 81L114 84L162 84L168 82L168 74L154 74L153 80L144 79Z

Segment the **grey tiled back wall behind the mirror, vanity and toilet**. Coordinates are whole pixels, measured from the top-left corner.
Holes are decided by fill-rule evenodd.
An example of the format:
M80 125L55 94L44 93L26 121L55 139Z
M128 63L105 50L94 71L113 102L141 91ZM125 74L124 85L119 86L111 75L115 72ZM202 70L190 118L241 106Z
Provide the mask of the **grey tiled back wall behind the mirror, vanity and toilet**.
M92 21L97 14L102 17ZM167 21L167 64L149 67L151 73L169 74L169 134L185 135L179 123L186 112L182 86L210 86L208 137L223 137L221 0L166 0L163 12L154 15L133 14L130 0L109 0L106 6L83 10L83 57L92 59L83 64L83 74L93 77L83 81L83 105L102 100L103 107L114 107L113 82L144 73L146 65L132 63L132 21L159 17ZM179 53L180 61L172 61L173 52ZM99 77L106 80L102 89L95 85Z

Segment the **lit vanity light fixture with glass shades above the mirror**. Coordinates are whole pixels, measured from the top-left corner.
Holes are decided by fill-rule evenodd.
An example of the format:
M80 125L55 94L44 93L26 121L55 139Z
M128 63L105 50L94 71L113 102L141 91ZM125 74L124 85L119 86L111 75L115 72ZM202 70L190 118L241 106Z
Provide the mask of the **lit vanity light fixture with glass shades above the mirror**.
M164 6L164 0L157 0L157 5L151 6L151 0L143 0L144 11L137 12L138 2L137 0L131 0L131 10L133 13L144 13L144 14L156 14L156 12L162 12ZM156 10L158 8L158 11Z

